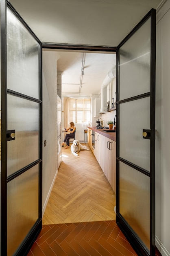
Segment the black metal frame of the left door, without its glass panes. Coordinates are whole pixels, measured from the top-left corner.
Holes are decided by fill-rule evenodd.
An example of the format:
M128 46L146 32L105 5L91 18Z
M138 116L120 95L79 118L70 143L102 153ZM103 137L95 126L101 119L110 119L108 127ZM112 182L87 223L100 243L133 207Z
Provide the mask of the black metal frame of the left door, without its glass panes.
M39 43L39 98L34 99L18 92L13 92L7 89L7 7L13 11L15 16L22 22L24 27ZM0 1L0 18L1 18L1 115L2 115L2 161L1 161L1 255L7 255L7 183L13 180L15 177L24 173L29 168L39 164L39 217L35 222L35 225L29 231L26 238L23 240L20 247L17 249L14 255L24 256L27 255L35 238L38 236L42 229L42 43L33 33L33 31L24 22L22 17L17 13L13 6L7 0ZM7 177L7 141L6 141L6 130L7 130L7 94L12 94L17 97L22 97L27 100L35 101L40 104L39 109L39 159L29 164L28 166L17 171L13 175Z

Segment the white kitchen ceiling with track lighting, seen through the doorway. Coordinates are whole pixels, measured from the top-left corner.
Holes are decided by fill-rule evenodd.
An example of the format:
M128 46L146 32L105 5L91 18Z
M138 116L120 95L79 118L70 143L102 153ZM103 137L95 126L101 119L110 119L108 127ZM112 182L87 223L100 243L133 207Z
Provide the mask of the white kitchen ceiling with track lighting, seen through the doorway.
M115 53L59 52L57 71L62 73L62 94L90 97L100 94L102 81L116 65Z

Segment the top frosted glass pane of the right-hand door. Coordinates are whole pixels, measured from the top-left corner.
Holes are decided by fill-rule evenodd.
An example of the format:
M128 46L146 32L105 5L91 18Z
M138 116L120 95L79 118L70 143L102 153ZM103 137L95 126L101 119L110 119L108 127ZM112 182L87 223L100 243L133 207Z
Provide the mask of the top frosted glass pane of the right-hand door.
M120 48L119 100L150 92L150 18Z

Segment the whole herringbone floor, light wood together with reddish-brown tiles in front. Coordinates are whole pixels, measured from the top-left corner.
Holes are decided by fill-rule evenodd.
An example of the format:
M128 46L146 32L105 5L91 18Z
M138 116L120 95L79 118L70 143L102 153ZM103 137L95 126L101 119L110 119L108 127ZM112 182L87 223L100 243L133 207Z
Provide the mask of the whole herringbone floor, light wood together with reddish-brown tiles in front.
M137 256L116 225L115 194L91 151L63 162L28 256ZM53 224L54 223L54 224ZM156 249L156 256L161 256Z

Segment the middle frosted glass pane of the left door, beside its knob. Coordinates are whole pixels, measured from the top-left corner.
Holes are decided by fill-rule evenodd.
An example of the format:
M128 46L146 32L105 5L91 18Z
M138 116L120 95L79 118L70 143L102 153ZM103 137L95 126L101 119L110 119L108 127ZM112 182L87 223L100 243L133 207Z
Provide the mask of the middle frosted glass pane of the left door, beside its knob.
M8 94L8 130L15 129L15 140L8 141L7 175L39 159L39 103Z

